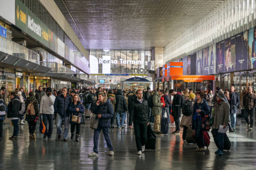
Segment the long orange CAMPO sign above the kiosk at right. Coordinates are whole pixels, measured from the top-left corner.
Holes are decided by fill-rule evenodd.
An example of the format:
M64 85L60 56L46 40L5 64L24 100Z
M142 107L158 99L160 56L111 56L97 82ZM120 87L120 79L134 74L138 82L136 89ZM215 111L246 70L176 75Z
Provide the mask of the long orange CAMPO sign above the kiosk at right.
M183 80L184 82L202 82L203 80L215 80L214 75L172 75L172 80Z

